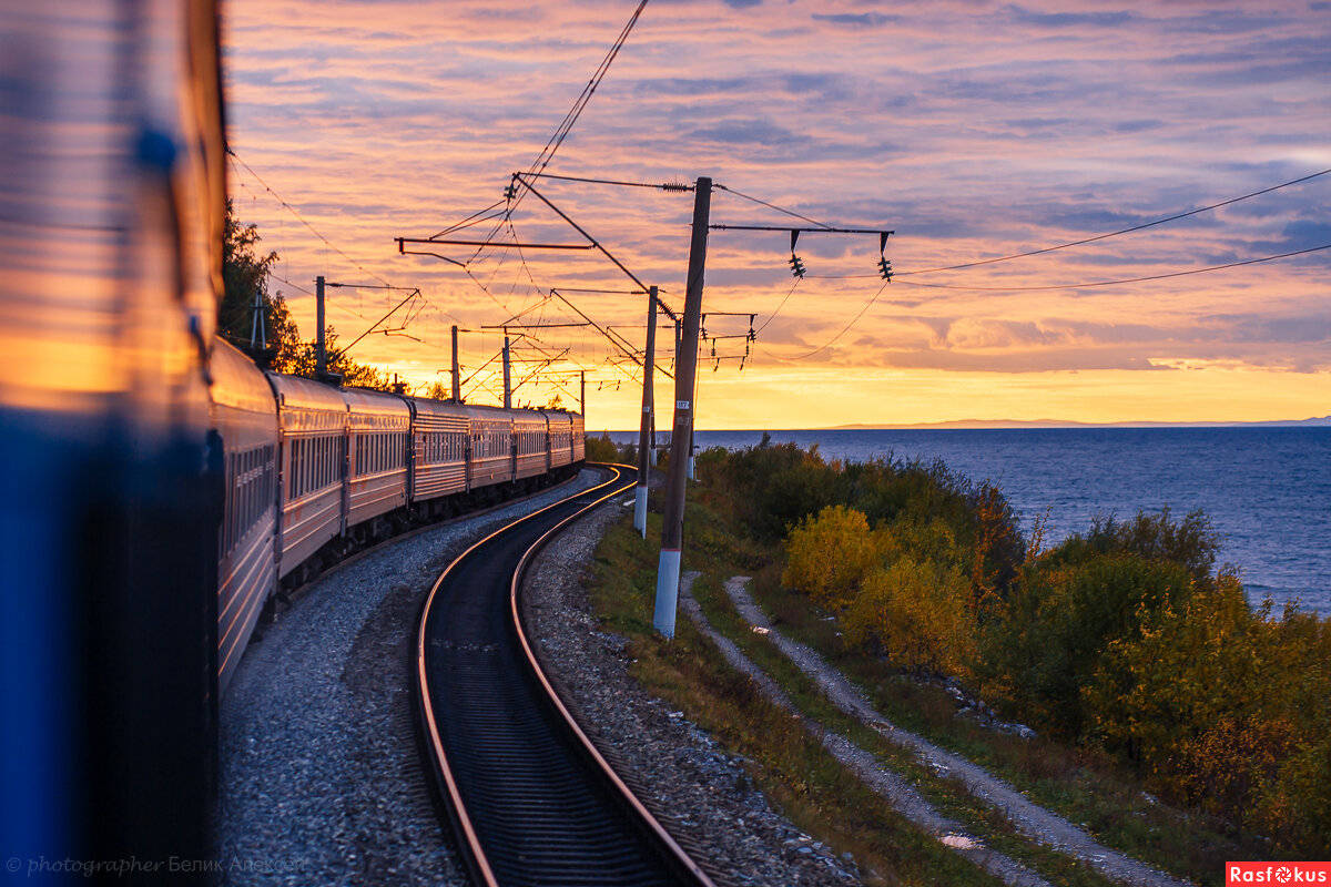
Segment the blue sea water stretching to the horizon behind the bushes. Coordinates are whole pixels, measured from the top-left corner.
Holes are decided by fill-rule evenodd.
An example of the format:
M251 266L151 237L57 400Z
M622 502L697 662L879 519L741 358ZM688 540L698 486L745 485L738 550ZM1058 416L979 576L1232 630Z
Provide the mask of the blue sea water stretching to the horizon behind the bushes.
M1021 428L773 431L817 444L824 459L941 459L989 480L1029 532L1047 515L1057 543L1097 515L1130 519L1201 508L1222 536L1219 563L1239 568L1248 598L1291 600L1331 617L1331 428ZM611 435L636 443L636 435ZM743 448L761 431L699 431L701 448Z

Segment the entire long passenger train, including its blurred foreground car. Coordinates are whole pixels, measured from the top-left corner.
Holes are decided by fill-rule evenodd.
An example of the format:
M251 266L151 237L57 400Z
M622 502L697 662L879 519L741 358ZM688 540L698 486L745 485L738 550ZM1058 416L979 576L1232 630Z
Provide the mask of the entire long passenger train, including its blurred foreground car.
M0 28L0 850L32 884L204 883L160 867L212 851L218 693L264 605L343 545L571 473L582 419L342 391L218 343L216 1L20 5Z

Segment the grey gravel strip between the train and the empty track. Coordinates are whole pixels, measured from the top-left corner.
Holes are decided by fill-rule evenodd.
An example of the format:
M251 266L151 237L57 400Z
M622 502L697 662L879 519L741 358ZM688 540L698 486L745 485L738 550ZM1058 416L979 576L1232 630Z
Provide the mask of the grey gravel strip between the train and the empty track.
M415 617L471 543L598 477L366 552L261 626L221 705L220 883L467 883L417 750Z

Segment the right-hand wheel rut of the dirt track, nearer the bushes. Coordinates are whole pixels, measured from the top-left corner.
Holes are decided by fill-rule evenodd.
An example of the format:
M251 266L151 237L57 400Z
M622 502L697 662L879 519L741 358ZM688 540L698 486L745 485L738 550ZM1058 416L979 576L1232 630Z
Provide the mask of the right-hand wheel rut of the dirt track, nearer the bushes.
M751 625L761 629L768 640L809 676L839 709L873 727L890 742L914 751L920 761L934 773L960 779L970 794L998 810L1021 834L1058 852L1081 859L1106 878L1134 884L1134 887L1183 887L1187 883L1105 847L1073 823L1034 803L984 767L940 749L924 737L894 726L823 657L775 629L749 596L748 581L748 576L736 576L725 584L725 592L735 604L735 609Z

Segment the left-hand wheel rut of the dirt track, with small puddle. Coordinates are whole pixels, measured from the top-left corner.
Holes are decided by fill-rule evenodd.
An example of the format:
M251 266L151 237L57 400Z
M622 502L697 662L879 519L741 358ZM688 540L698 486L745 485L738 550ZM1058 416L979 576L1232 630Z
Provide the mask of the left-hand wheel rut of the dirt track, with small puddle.
M789 697L781 692L776 682L772 681L772 678L769 678L761 668L755 665L753 661L749 660L732 640L717 632L707 621L703 608L699 606L697 600L692 594L692 585L697 577L699 573L685 573L683 581L680 582L680 609L683 609L688 617L693 620L699 630L701 630L703 634L705 634L712 644L716 645L716 648L721 652L721 656L725 657L725 661L729 662L737 672L748 676L764 696L767 696L775 705L779 705L793 714L800 714L804 727L823 743L823 747L827 749L832 757L860 777L866 786L885 798L888 803L890 803L892 807L902 817L909 819L926 834L937 838L941 844L949 847L957 855L969 859L985 871L1000 878L1004 883L1012 884L1012 887L1050 887L1049 882L1030 868L1026 868L1021 863L1000 854L996 850L985 847L981 840L968 835L960 823L940 814L933 805L925 801L920 793L910 786L910 783L901 778L901 775L878 763L878 759L873 754L855 745L844 735L827 730L816 721L803 717L803 713L795 707ZM747 577L741 578L747 581Z

